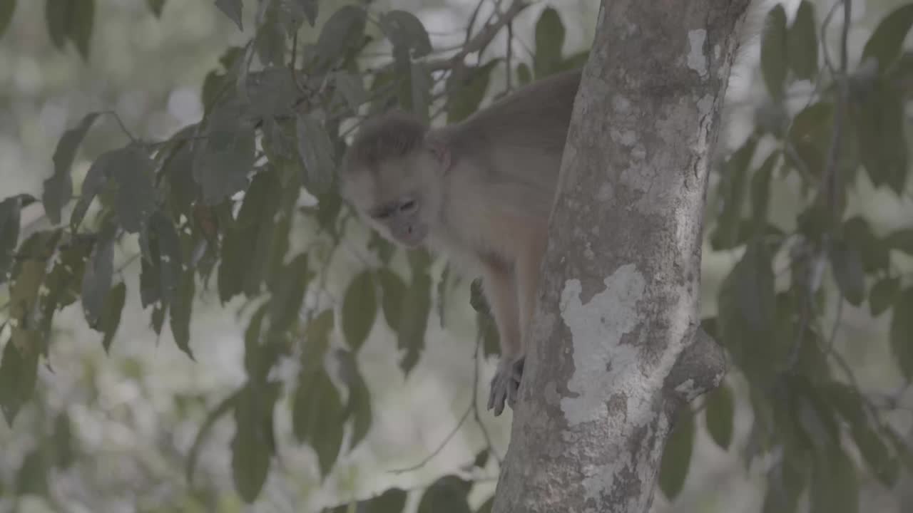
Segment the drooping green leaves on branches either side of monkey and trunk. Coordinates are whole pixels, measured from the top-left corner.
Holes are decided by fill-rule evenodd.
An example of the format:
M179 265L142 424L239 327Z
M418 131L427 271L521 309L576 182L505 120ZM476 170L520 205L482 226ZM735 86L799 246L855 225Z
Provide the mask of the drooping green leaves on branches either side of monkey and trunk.
M15 1L2 4L0 36L16 7ZM254 2L217 0L215 8L237 28L249 29L247 4ZM149 0L148 7L151 16L161 16L167 3ZM190 331L194 298L215 279L223 304L240 299L253 305L245 333L247 381L227 392L201 426L187 476L193 476L215 420L231 414L231 466L237 493L248 502L260 495L280 450L273 418L283 400L296 440L313 449L327 476L372 427L371 393L355 356L379 320L394 332L399 366L408 375L425 349L433 305L443 319L456 284L446 268L434 270L424 251L404 255L407 265L397 266L402 250L373 234L369 261L352 273L340 300L303 306L307 293L320 292L335 248L351 236L352 210L334 186L346 138L364 117L391 106L433 120L464 120L493 94L497 72L506 72L508 84L524 84L587 58L586 52L564 55L567 28L551 7L536 21L529 61L483 54L475 65L463 63L462 49L458 59L439 58L425 26L406 11L345 5L323 13L317 0L261 0L257 7L262 16L254 20L254 36L243 47L227 48L205 79L202 120L164 141L128 134L128 145L96 156L74 187L71 169L82 141L101 116L112 115L90 113L58 142L40 200L27 194L0 199L0 285L9 294L0 327L6 421L12 424L32 397L61 309L79 303L107 351L117 341L127 295L138 294L153 330L166 329L168 319L178 347L198 358ZM769 107L716 170L721 204L708 221L708 238L714 250L732 252L738 263L719 289L716 317L704 326L726 346L749 385L755 422L746 458L781 455L768 476L765 511L793 511L805 491L813 511L855 511L856 466L890 487L900 466L913 460L858 390L824 326L829 308L842 312L844 301L853 307L867 302L872 315L890 317L890 349L906 380L913 378L913 280L903 267L904 256L913 256L913 225L881 229L847 200L862 179L860 168L874 186L898 197L909 194L902 113L913 54L902 42L913 25L911 8L884 16L862 60L842 69L830 62L819 37L831 16L819 16L804 1L791 21L782 5L774 6L761 37ZM46 13L54 46L71 42L90 60L94 0L47 0ZM299 41L305 26L317 34L313 42ZM478 41L484 36L484 30L476 34ZM368 57L383 44L391 47L391 58ZM792 87L801 80L817 86L796 104ZM786 222L771 209L777 183L801 190L803 204ZM301 206L306 197L316 204ZM22 209L38 201L51 226L20 240ZM290 231L302 219L320 226L320 233L305 249L292 250ZM138 254L120 254L128 240L139 246ZM326 247L331 249L321 250ZM118 267L133 258L141 266L137 283L124 281ZM786 275L775 265L784 259ZM497 332L477 283L471 288L489 355L497 352ZM344 346L331 351L335 331ZM331 359L337 365L329 365ZM299 372L279 379L273 371L286 361L295 361ZM733 419L742 399L727 385L703 404L707 432L722 450L735 450ZM666 446L659 485L670 499L686 485L700 426L696 415L680 415ZM66 416L55 422L55 454L26 456L19 493L47 493L48 469L72 461L68 425ZM466 476L441 476L420 492L418 510L471 511L472 487ZM406 496L391 488L359 501L355 510L401 511ZM478 511L490 507L488 501Z

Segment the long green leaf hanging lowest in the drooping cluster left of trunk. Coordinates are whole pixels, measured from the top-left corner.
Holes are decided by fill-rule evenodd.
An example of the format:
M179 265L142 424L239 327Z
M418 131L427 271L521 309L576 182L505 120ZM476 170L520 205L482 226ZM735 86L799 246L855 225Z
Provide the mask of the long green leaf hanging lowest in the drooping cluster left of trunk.
M235 437L232 439L232 477L238 495L248 504L254 502L269 474L269 463L276 451L272 415L279 388L248 382L235 405Z

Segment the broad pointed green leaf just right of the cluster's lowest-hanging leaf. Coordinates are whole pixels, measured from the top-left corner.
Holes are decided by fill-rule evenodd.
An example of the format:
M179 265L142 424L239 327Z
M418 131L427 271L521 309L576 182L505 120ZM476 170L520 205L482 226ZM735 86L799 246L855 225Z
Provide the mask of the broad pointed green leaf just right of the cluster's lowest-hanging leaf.
M340 394L320 369L302 370L292 405L292 431L317 453L320 474L327 476L342 445L343 411Z

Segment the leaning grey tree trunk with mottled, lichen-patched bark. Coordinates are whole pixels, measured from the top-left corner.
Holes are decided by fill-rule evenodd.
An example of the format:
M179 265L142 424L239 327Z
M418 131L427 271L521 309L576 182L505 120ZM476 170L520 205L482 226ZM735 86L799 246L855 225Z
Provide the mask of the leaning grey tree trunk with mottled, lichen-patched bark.
M603 2L497 513L648 511L679 406L725 373L698 331L702 210L749 3Z

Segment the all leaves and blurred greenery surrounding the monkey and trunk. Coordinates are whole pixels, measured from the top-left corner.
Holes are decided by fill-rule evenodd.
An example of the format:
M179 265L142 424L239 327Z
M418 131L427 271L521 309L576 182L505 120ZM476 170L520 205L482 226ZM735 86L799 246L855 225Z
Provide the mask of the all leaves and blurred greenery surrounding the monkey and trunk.
M913 510L913 4L846 4L761 3L730 81L701 309L733 367L657 512ZM373 112L581 66L597 11L0 0L0 510L488 510L477 286L334 170Z

